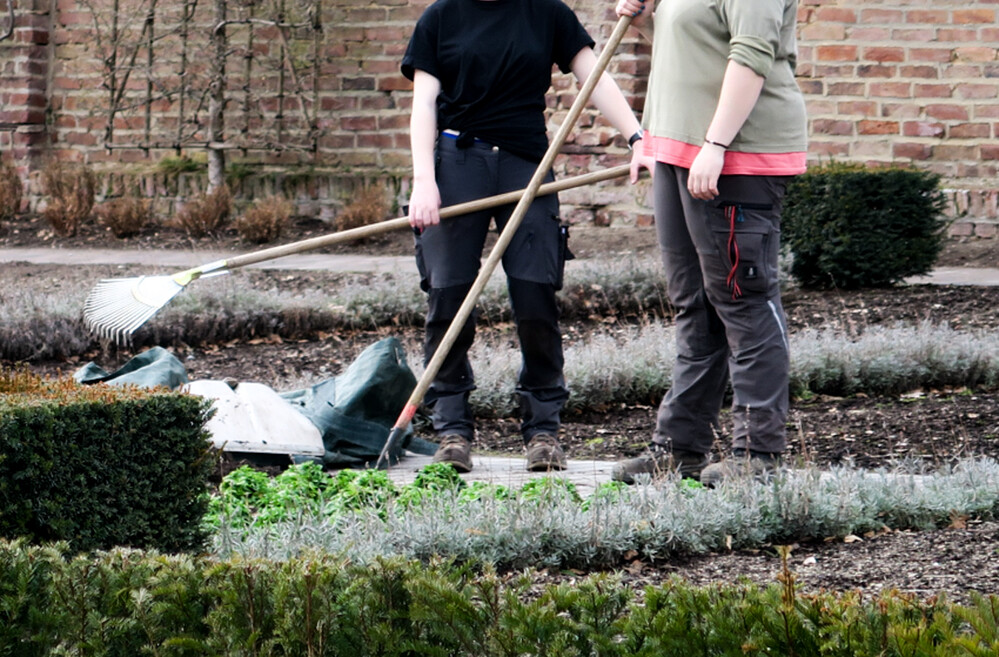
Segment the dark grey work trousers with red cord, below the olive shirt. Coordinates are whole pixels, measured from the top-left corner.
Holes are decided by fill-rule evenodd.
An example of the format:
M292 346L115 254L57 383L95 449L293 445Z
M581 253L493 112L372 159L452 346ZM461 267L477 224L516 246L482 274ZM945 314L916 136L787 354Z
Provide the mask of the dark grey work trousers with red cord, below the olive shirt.
M777 256L788 178L722 176L719 196L687 191L685 168L658 164L655 221L677 310L677 361L653 441L706 454L732 385L733 449L783 452L790 357Z

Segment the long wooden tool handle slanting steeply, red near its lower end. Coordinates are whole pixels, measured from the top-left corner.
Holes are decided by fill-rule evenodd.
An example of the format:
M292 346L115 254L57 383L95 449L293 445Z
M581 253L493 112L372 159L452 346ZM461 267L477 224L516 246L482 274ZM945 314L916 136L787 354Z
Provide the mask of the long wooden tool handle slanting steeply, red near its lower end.
M555 156L557 156L559 151L562 149L562 144L564 144L565 140L569 137L569 132L572 131L573 126L575 126L576 119L579 118L579 115L582 113L586 103L589 102L590 94L593 93L593 89L600 81L600 76L603 75L604 69L607 68L607 64L610 62L611 57L614 55L614 51L617 49L618 44L621 42L621 39L624 37L624 33L627 31L630 24L630 16L622 16L618 19L617 25L614 27L614 31L607 40L607 45L604 46L603 51L600 53L600 57L597 58L597 63L594 65L590 75L586 78L586 82L583 84L582 89L579 90L579 94L576 95L576 99L572 102L572 106L569 108L569 113L566 115L565 120L562 121L562 125L559 126L558 131L552 138L551 144L548 145L548 150L545 152L545 156L541 159L541 163L534 172L534 176L527 184L527 187L524 188L524 195L520 197L520 201L513 209L513 214L511 214L510 218L507 220L507 224L503 228L503 232L500 233L499 239L496 240L493 250L489 253L489 257L483 263L482 269L479 271L479 275L476 276L475 282L472 283L472 287L468 290L468 294L465 295L465 300L458 308L457 314L454 319L451 320L451 325L448 327L447 333L445 333L444 337L441 338L440 344L437 346L437 350L434 351L433 357L430 359L430 362L427 363L427 366L423 371L423 376L421 376L420 380L417 381L416 387L409 396L409 400L406 402L402 412L399 414L399 418L396 420L395 425L389 432L388 439L385 441L385 446L382 447L381 454L378 456L378 462L375 467L380 468L383 463L387 465L389 454L392 453L395 443L398 442L399 438L403 435L403 433L405 433L406 427L409 426L409 423L413 420L413 416L416 415L416 409L419 407L420 402L423 401L424 395L426 395L427 390L430 389L430 384L433 382L434 378L436 378L437 372L440 371L441 366L444 364L444 359L447 358L448 353L451 351L451 347L454 346L455 341L458 339L458 334L461 332L465 321L472 314L472 309L475 308L479 294L482 293L483 288L485 288L486 283L489 281L489 277L492 276L493 270L495 270L496 265L499 264L500 259L503 257L503 253L506 251L506 247L509 246L510 242L513 240L513 234L517 231L517 228L520 227L520 223L523 221L524 215L527 213L527 208L534 202L534 198L537 196L542 181L545 179L545 176L548 175L548 171L551 169L552 163L555 161Z

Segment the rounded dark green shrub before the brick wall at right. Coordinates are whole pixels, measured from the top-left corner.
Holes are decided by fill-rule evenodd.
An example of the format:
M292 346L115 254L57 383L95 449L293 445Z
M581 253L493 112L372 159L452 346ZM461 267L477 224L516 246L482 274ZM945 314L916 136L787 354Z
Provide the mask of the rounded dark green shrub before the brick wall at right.
M788 186L782 219L791 276L804 287L894 285L930 271L946 222L940 177L832 163Z

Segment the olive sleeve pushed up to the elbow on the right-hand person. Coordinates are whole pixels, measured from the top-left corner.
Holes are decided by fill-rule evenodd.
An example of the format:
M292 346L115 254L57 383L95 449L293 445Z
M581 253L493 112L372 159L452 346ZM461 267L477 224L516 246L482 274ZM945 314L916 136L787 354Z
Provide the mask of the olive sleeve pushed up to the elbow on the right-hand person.
M783 0L724 0L722 20L728 27L729 59L766 77L780 48Z

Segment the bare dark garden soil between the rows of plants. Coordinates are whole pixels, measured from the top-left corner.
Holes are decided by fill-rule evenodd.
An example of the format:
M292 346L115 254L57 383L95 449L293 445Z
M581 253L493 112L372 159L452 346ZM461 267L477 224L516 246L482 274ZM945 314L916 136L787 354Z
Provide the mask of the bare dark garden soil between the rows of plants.
M291 227L282 241L320 234L324 226L302 221ZM655 237L648 228L586 228L575 230L572 248L580 257L613 257L615 254L655 252ZM106 231L84 226L74 238L55 237L39 219L22 218L0 226L0 248L41 246L55 248L224 249L242 252L254 245L239 243L234 234L191 240L168 228L147 229L142 235L116 239ZM342 252L402 255L411 251L405 232L382 239L339 247ZM999 240L951 241L938 264L946 266L999 266ZM88 267L17 265L21 280L53 277L90 277ZM41 273L40 276L29 274ZM288 272L254 274L278 284ZM294 284L322 287L328 274L296 272ZM792 331L837 327L848 334L896 321L947 322L957 329L993 330L999 326L999 288L970 286L906 286L859 292L806 292L791 290L784 297ZM567 335L585 335L586 325L566 326ZM489 330L488 328L485 330ZM296 342L256 340L198 349L180 347L191 378L234 377L243 381L287 380L297 372L340 372L374 340L384 335L416 340L414 329L339 333L323 339ZM128 354L119 353L123 359ZM108 354L89 354L108 358ZM71 372L73 362L37 362L39 372ZM102 362L106 367L115 363ZM641 451L649 438L656 400L599 409L564 418L561 438L570 457L617 459ZM479 426L479 449L520 453L516 423L484 420ZM962 457L987 455L999 458L999 394L981 390L916 390L903 396L874 398L817 398L795 400L789 418L790 457L819 465L847 461L862 467L891 466L916 459L928 466L943 465ZM718 446L722 447L721 445ZM805 591L861 590L875 594L900 589L919 596L946 593L966 600L969 591L999 594L999 523L976 518L955 518L951 527L932 532L885 531L870 536L815 541L795 546L790 565ZM745 577L760 583L776 581L780 559L774 549L713 554L683 561L648 564L634 561L622 571L626 580L642 584L679 575L694 583L731 582ZM548 573L542 577L565 580L573 573Z

